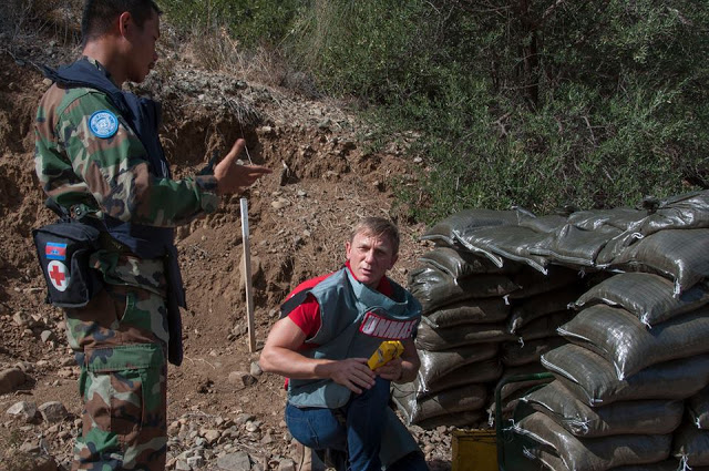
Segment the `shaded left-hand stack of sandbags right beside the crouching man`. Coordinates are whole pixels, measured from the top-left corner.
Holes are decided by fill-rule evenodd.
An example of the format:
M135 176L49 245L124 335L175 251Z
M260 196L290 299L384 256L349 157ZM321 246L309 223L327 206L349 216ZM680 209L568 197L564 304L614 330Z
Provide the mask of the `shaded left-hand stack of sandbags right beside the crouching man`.
M421 369L414 382L393 389L410 423L487 423L503 375L541 371L541 354L558 345L556 328L568 320L567 305L578 297L573 288L577 273L552 267L542 274L455 242L462 228L511 228L531 217L523 211L469 211L424 236L436 247L419 259L409 278L409 289L423 306L415 340ZM517 399L510 385L505 398Z

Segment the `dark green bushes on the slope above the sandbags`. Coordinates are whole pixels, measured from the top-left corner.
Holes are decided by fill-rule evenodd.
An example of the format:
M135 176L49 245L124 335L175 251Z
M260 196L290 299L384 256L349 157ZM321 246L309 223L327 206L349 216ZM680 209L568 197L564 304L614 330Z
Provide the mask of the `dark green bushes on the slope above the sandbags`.
M278 43L320 90L357 96L390 136L415 131L427 171L397 193L422 221L465 207L634 205L709 187L709 3L206 4L235 34Z

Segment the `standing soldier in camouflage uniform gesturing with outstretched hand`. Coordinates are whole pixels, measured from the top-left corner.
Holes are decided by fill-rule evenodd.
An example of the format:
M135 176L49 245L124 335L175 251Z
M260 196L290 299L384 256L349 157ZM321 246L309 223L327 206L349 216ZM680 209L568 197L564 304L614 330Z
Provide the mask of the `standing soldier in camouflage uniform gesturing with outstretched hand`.
M168 342L171 354L181 348L167 321L171 293L182 294L166 263L174 258L171 228L270 173L236 164L245 146L238 140L213 174L169 177L155 107L121 91L126 81L143 81L157 60L160 13L152 0L86 0L83 57L49 75L55 83L37 113L42 188L73 217L104 229L90 258L104 289L85 307L65 309L84 405L72 470L165 469ZM166 252L154 256L161 237Z

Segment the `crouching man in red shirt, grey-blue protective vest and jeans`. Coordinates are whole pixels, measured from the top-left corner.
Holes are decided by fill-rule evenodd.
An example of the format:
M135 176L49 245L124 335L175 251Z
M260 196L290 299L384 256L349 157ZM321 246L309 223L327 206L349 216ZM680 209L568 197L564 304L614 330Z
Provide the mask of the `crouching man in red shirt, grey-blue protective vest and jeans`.
M345 451L349 470L428 470L415 441L389 403L391 381L413 381L420 367L413 335L421 305L386 274L397 262L399 231L362 219L345 244L340 270L299 285L260 356L264 371L289 378L286 423L314 450ZM400 358L371 370L383 340Z

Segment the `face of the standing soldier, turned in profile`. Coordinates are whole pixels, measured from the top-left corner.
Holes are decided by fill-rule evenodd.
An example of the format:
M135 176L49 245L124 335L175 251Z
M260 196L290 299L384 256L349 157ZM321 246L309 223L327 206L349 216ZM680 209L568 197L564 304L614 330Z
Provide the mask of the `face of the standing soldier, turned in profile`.
M131 82L142 82L157 61L155 43L160 38L160 17L153 11L145 20L143 28L135 21L130 21L126 38L131 44L127 53L126 79Z

